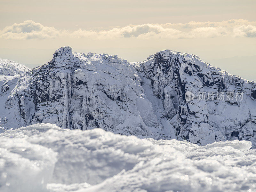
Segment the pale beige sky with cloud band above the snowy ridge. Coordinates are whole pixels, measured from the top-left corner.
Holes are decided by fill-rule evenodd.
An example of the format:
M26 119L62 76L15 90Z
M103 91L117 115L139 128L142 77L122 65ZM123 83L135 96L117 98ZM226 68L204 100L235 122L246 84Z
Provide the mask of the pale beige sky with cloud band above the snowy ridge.
M128 61L172 49L256 81L255 8L255 0L0 0L0 58L33 68L67 45Z

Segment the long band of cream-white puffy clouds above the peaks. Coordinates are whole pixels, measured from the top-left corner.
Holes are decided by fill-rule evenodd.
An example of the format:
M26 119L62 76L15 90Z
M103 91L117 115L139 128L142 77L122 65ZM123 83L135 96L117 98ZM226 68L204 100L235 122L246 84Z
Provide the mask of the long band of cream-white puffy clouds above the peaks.
M195 22L129 25L110 30L92 31L78 29L75 31L58 30L43 26L32 20L15 23L0 30L4 39L46 39L46 38L165 38L192 39L227 37L256 37L256 22L248 20L227 20L221 22Z

